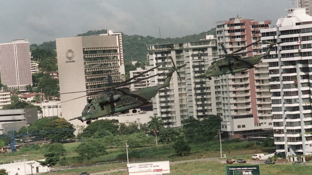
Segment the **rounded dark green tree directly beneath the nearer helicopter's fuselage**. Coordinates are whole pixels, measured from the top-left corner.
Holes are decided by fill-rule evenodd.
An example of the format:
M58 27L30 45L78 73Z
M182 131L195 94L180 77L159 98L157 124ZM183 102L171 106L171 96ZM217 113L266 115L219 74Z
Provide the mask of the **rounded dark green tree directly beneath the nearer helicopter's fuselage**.
M116 135L118 132L118 121L109 120L109 119L101 119L94 122L91 122L84 130L82 137L92 138L95 133L98 131L107 130L110 131L113 135Z

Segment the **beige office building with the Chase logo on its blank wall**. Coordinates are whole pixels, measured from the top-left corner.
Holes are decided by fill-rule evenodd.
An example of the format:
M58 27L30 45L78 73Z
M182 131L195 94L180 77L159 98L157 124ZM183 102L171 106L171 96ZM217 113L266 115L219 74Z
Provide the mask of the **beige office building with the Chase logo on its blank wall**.
M91 93L109 86L108 75L114 84L123 81L124 65L119 38L121 35L77 36L56 39L57 65L60 82L62 117L81 116ZM73 92L73 93L71 93ZM76 100L68 101L77 97ZM68 101L68 102L66 102ZM74 120L80 124L81 121Z

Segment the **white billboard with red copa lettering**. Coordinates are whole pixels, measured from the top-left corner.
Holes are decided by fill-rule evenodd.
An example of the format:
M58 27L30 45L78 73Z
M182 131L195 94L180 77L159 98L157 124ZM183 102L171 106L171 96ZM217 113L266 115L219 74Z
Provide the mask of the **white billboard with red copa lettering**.
M129 175L165 174L170 173L169 161L128 163Z

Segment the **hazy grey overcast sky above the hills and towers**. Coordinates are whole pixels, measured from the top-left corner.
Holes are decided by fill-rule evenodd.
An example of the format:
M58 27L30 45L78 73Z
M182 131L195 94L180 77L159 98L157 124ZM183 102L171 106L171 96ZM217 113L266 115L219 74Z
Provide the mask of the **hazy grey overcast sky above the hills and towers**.
M0 0L0 43L27 38L42 44L90 30L175 38L216 27L237 15L272 20L296 0Z

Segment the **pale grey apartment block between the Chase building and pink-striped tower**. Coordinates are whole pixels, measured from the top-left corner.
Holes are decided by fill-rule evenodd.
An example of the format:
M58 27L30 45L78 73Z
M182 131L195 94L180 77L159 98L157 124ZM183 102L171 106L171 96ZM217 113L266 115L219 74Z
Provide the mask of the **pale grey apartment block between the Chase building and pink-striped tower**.
M161 65L172 67L186 64L185 67L174 73L167 89L159 90L153 101L154 115L162 116L165 126L180 127L183 120L189 116L202 118L221 112L221 105L217 108L216 98L220 96L220 88L214 82L197 78L203 74L208 64L212 62L208 55L217 56L216 39L213 35L208 39L180 44L157 44L148 46L150 68ZM211 39L209 39L211 38ZM172 63L173 61L173 63ZM151 75L163 73L163 70L154 70ZM151 86L162 84L165 76L151 78ZM216 90L216 91L215 91ZM221 98L218 98L221 102Z

